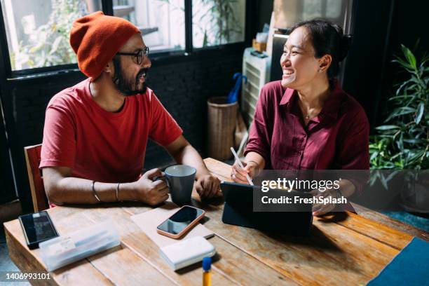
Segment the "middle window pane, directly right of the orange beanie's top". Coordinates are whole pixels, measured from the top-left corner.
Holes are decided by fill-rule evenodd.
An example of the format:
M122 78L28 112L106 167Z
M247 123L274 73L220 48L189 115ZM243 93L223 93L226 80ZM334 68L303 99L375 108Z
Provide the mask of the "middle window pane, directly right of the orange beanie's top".
M114 0L114 15L136 25L151 53L184 50L183 0Z

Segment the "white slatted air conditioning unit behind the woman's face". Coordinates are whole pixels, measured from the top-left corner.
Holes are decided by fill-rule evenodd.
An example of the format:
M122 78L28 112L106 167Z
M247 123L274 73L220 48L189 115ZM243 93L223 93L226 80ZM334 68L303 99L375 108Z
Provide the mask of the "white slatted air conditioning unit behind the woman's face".
M258 57L252 55L254 48L246 48L243 54L243 74L247 76L247 83L241 86L241 111L243 117L250 125L253 121L254 109L256 107L259 93L265 83L270 81L271 57Z

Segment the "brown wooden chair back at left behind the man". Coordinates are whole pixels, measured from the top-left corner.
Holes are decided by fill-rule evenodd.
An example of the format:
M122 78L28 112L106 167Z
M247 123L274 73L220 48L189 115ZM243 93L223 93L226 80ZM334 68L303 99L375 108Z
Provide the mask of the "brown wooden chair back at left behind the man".
M49 208L48 197L46 197L45 186L43 186L43 177L39 169L41 144L24 147L24 153L34 212L40 212Z

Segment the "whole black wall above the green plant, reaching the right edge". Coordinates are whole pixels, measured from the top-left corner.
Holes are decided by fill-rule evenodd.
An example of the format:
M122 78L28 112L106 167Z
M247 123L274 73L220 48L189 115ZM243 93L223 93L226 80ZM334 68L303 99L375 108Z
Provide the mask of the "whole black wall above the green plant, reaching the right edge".
M412 48L420 38L420 51L428 50L425 2L356 1L343 88L361 102L372 128L386 118L387 99L400 79L400 69L391 62L400 53L400 43Z

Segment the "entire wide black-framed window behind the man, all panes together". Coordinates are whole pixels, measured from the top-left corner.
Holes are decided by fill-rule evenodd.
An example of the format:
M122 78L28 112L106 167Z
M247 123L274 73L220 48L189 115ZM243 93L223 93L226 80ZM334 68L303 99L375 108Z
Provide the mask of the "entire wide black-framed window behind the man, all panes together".
M72 23L95 11L136 25L151 55L245 41L247 0L0 0L11 70L27 75L76 64L69 44ZM104 6L103 6L104 5ZM109 7L106 7L109 5ZM167 53L164 53L167 52ZM177 53L174 53L177 54ZM180 54L180 53L178 53ZM39 69L43 68L43 69ZM31 71L31 69L36 69ZM15 73L13 72L15 71Z

